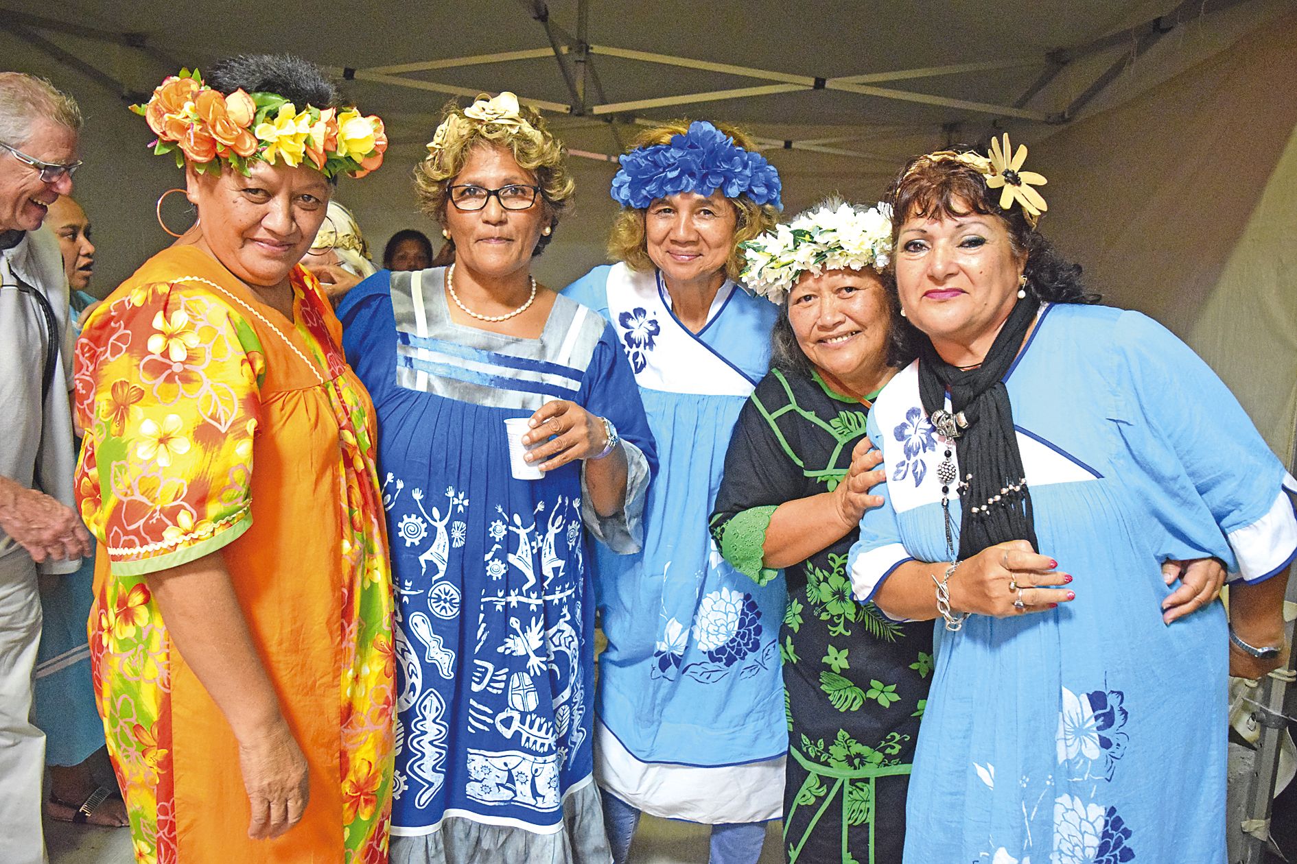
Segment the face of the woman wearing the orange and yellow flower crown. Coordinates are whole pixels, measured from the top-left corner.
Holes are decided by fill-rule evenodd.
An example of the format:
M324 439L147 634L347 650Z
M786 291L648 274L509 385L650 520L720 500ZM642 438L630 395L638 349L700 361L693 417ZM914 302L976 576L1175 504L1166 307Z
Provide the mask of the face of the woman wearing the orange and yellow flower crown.
M188 168L189 201L215 259L248 285L275 288L315 240L332 187L306 166L250 161L248 168L248 176L230 167L219 176Z

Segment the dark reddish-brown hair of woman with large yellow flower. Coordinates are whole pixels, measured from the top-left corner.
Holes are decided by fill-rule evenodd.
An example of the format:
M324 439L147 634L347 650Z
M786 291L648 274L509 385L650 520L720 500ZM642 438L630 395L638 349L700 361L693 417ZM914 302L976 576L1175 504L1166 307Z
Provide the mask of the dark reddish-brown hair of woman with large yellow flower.
M995 216L1009 233L1013 254L1026 259L1022 272L1029 291L1049 303L1097 303L1101 297L1086 290L1080 264L1060 255L1027 222L1021 206L1000 207L1000 192L988 189L971 166L952 158L961 152L971 148L914 157L892 180L885 198L892 207L892 244L901 225L914 216L957 219L970 212ZM888 290L895 295L895 273ZM905 328L914 329L909 323Z

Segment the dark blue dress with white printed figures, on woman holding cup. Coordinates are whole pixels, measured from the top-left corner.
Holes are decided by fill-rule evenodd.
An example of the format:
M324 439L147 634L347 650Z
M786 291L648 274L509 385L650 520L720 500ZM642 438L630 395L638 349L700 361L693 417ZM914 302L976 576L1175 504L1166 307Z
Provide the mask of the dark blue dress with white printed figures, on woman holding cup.
M558 297L538 339L451 321L445 269L380 271L341 306L379 418L397 604L394 861L607 861L591 784L594 604L585 525L634 552L655 468L612 329ZM581 465L514 479L506 417L569 399L608 417L628 504L599 518Z

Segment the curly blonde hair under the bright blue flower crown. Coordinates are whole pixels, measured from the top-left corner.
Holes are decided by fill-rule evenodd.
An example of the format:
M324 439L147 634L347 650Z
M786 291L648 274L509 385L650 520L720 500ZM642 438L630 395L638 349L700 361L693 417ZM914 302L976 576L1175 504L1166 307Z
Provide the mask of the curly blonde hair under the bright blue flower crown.
M673 136L689 132L689 124L690 120L668 120L661 126L647 128L636 136L630 146L626 148L626 153L658 144L671 144ZM730 136L734 144L744 150L756 150L756 141L743 130L729 123L713 122L712 126ZM725 259L725 275L738 281L746 264L739 244L767 231L773 231L779 222L779 211L773 205L759 205L746 194L726 198L726 201L734 205L737 223L734 225L734 247ZM625 262L630 269L637 271L651 271L655 267L652 259L648 258L645 212L646 210L639 207L623 207L612 222L612 233L608 236L608 256Z

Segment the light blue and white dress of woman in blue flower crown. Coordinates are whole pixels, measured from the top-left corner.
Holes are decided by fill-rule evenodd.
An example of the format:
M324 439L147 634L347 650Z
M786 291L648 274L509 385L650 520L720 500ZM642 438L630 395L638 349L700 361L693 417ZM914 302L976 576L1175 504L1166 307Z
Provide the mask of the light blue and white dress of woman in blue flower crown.
M769 368L778 310L726 281L695 334L672 313L660 277L625 264L597 267L564 295L615 326L661 461L643 552L595 553L608 639L595 776L655 816L778 819L787 753L777 645L783 582L754 584L708 532L734 422Z

